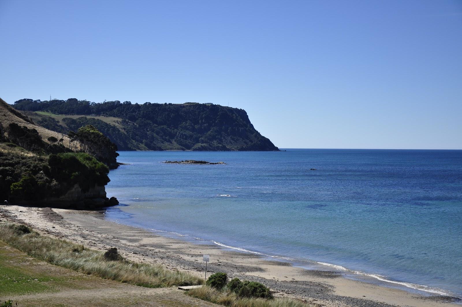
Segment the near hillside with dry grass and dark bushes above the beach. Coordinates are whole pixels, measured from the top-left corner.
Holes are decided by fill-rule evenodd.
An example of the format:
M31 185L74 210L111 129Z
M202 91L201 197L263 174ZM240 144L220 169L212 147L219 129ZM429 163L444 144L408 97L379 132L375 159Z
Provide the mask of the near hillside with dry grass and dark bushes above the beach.
M60 134L0 99L0 199L10 203L96 208L106 197L117 147L91 125Z

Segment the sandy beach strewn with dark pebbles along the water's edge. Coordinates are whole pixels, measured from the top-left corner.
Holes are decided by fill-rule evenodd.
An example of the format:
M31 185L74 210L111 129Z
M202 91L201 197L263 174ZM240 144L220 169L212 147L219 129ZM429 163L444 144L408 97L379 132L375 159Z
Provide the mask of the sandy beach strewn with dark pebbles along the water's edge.
M304 270L251 253L165 237L106 221L103 211L2 205L0 219L24 223L41 233L98 250L116 247L130 260L163 264L171 270L189 271L198 276L204 275L202 255L209 254L208 274L226 272L231 278L262 282L275 291L275 296L294 297L324 306L460 306L450 297L419 295L344 278L336 271Z

